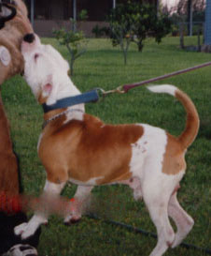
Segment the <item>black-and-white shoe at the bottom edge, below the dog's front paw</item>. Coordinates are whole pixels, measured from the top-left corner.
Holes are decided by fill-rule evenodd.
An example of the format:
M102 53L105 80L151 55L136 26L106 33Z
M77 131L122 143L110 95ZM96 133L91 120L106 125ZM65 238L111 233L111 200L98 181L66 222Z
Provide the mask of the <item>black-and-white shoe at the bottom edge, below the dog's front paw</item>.
M16 245L10 248L4 256L37 256L38 253L34 247L29 245Z

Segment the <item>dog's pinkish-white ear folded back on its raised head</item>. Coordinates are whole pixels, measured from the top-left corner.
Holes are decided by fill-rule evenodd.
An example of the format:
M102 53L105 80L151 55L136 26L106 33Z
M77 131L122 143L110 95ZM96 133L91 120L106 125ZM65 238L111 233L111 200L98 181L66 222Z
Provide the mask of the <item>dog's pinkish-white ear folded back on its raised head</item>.
M56 103L57 89L58 89L57 83L54 81L53 75L50 74L47 77L46 83L42 85L42 96L44 98L47 98L47 101L46 101L47 105Z

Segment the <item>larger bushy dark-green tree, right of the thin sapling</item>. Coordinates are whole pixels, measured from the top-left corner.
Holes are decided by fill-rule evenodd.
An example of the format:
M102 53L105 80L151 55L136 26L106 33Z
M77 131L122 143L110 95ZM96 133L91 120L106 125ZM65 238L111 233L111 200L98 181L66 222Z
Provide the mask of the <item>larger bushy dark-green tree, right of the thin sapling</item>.
M162 14L158 16L157 8L154 6L131 2L112 9L108 22L113 46L120 44L125 64L132 41L137 44L141 52L146 38L153 37L159 43L171 28L167 16Z

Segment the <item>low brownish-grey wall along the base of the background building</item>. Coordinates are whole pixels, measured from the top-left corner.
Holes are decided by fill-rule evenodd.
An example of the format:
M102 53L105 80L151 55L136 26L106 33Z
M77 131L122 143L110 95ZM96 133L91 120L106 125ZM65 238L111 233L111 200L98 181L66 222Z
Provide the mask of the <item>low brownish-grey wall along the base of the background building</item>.
M78 22L77 29L82 30L86 37L93 38L94 35L91 33L92 28L98 24L99 27L107 26L105 22ZM69 21L52 21L52 20L35 20L34 29L35 33L39 37L51 38L53 29L60 29L64 27L65 29L71 29L72 25Z

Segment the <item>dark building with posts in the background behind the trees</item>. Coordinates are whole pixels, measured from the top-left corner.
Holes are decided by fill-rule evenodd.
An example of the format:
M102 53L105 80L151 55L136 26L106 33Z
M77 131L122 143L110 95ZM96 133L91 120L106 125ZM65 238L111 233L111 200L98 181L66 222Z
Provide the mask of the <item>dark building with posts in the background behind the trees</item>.
M51 37L52 29L68 28L69 19L77 17L82 9L88 12L87 22L80 23L80 29L88 37L92 37L91 30L96 25L105 26L105 17L111 8L128 0L25 0L29 9L29 16L34 24L35 32L40 37ZM140 0L132 0L140 2ZM144 0L157 7L159 0Z

